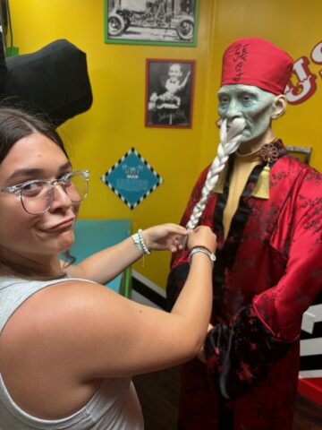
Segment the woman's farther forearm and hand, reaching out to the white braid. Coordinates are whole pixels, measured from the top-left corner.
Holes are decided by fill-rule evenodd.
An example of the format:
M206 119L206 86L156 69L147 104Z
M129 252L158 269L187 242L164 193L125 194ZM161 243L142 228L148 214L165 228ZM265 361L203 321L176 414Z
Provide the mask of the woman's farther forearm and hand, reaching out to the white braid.
M143 240L151 251L169 250L175 252L182 248L182 240L186 235L187 230L185 228L171 223L142 231ZM90 255L78 264L64 267L66 263L63 262L63 268L72 278L93 280L100 284L106 284L126 267L139 260L142 254L132 238L128 237L117 245Z

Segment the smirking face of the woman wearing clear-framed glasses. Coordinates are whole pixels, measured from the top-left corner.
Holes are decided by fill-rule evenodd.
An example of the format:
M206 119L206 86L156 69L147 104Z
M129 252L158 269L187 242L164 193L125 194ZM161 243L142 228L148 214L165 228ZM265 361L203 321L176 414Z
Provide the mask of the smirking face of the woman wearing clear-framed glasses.
M16 142L0 164L0 188L31 179L54 180L72 171L55 142L34 133ZM0 193L0 256L12 262L44 262L56 258L73 243L73 225L79 203L72 203L61 185L55 185L48 211L31 215L14 193Z

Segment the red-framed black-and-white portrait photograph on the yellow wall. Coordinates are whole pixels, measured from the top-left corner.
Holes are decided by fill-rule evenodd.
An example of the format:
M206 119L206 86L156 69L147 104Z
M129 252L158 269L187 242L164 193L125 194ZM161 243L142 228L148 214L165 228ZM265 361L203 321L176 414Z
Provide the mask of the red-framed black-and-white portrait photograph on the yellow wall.
M147 127L191 128L194 60L147 59Z

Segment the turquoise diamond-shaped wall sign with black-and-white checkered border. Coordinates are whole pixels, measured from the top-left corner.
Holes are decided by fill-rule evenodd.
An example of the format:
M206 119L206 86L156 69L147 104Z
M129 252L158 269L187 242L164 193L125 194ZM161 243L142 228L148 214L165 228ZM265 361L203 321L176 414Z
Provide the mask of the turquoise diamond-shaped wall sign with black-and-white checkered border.
M125 203L134 209L163 182L154 168L131 148L122 159L102 176L102 181Z

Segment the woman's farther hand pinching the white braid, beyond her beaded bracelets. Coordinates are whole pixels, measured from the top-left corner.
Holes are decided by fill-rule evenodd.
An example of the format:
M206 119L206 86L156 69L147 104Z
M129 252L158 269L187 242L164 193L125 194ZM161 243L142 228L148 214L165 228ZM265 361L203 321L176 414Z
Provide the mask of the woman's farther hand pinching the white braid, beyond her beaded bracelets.
M161 224L142 231L142 237L149 250L168 250L175 253L184 247L188 230L176 224Z

